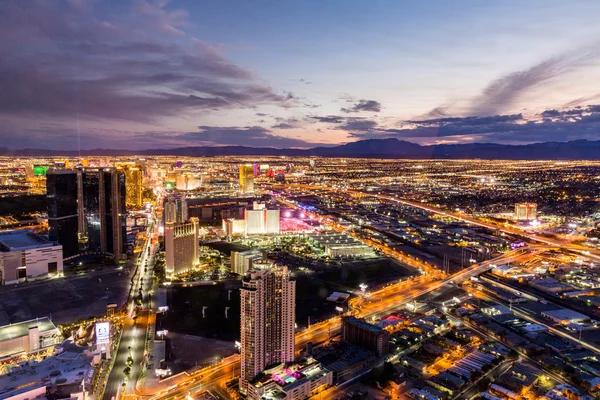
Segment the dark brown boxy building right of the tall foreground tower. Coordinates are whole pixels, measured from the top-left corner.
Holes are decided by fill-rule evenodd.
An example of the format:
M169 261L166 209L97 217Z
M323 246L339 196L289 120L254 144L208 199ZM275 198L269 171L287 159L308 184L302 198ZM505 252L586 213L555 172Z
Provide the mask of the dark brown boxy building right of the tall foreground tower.
M387 354L390 348L390 337L386 330L356 317L342 319L342 340L370 350L378 356Z

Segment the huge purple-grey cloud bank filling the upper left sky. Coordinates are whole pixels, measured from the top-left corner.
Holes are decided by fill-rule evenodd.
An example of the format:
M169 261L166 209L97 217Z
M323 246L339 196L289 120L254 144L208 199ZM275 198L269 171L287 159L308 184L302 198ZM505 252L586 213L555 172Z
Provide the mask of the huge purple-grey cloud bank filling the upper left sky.
M90 7L0 4L0 114L148 122L191 111L289 107L296 100L200 40L167 42L185 35L185 11L138 1L102 20Z

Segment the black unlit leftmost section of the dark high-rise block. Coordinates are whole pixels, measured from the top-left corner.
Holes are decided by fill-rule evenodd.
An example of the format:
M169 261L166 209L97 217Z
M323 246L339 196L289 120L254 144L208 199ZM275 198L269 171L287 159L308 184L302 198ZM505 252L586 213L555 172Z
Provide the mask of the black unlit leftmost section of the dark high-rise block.
M62 245L65 258L79 252L77 173L69 169L50 169L46 173L48 237Z

